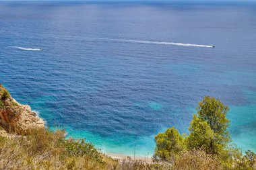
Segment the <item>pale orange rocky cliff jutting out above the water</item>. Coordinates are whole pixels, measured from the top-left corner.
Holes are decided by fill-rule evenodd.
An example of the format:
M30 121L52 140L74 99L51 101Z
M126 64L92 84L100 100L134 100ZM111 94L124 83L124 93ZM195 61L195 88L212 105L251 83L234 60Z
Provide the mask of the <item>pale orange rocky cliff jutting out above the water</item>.
M0 84L0 126L6 132L29 134L32 129L44 128L44 121L33 112L29 105L15 101ZM1 130L0 134L3 134Z

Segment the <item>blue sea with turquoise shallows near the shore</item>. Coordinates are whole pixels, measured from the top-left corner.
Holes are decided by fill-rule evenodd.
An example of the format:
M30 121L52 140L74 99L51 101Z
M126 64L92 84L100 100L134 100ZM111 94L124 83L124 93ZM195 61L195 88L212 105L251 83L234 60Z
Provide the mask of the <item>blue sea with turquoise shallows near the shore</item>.
M256 7L2 2L0 83L49 127L129 155L151 155L170 126L187 132L212 95L256 151Z

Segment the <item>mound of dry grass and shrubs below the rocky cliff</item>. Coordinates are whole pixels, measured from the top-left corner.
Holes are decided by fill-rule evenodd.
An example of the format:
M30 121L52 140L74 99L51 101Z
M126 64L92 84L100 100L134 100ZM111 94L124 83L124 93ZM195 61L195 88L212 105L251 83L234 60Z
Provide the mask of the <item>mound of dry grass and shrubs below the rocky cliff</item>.
M30 136L0 138L0 169L106 169L100 153L64 132L35 130Z

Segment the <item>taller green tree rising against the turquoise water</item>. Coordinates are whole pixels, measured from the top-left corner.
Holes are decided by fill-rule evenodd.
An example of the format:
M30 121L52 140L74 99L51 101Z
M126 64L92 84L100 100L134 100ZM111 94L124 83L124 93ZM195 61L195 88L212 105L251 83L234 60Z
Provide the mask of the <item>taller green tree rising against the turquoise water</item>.
M207 153L220 154L230 142L228 110L220 100L205 96L189 126L189 148L203 148Z

